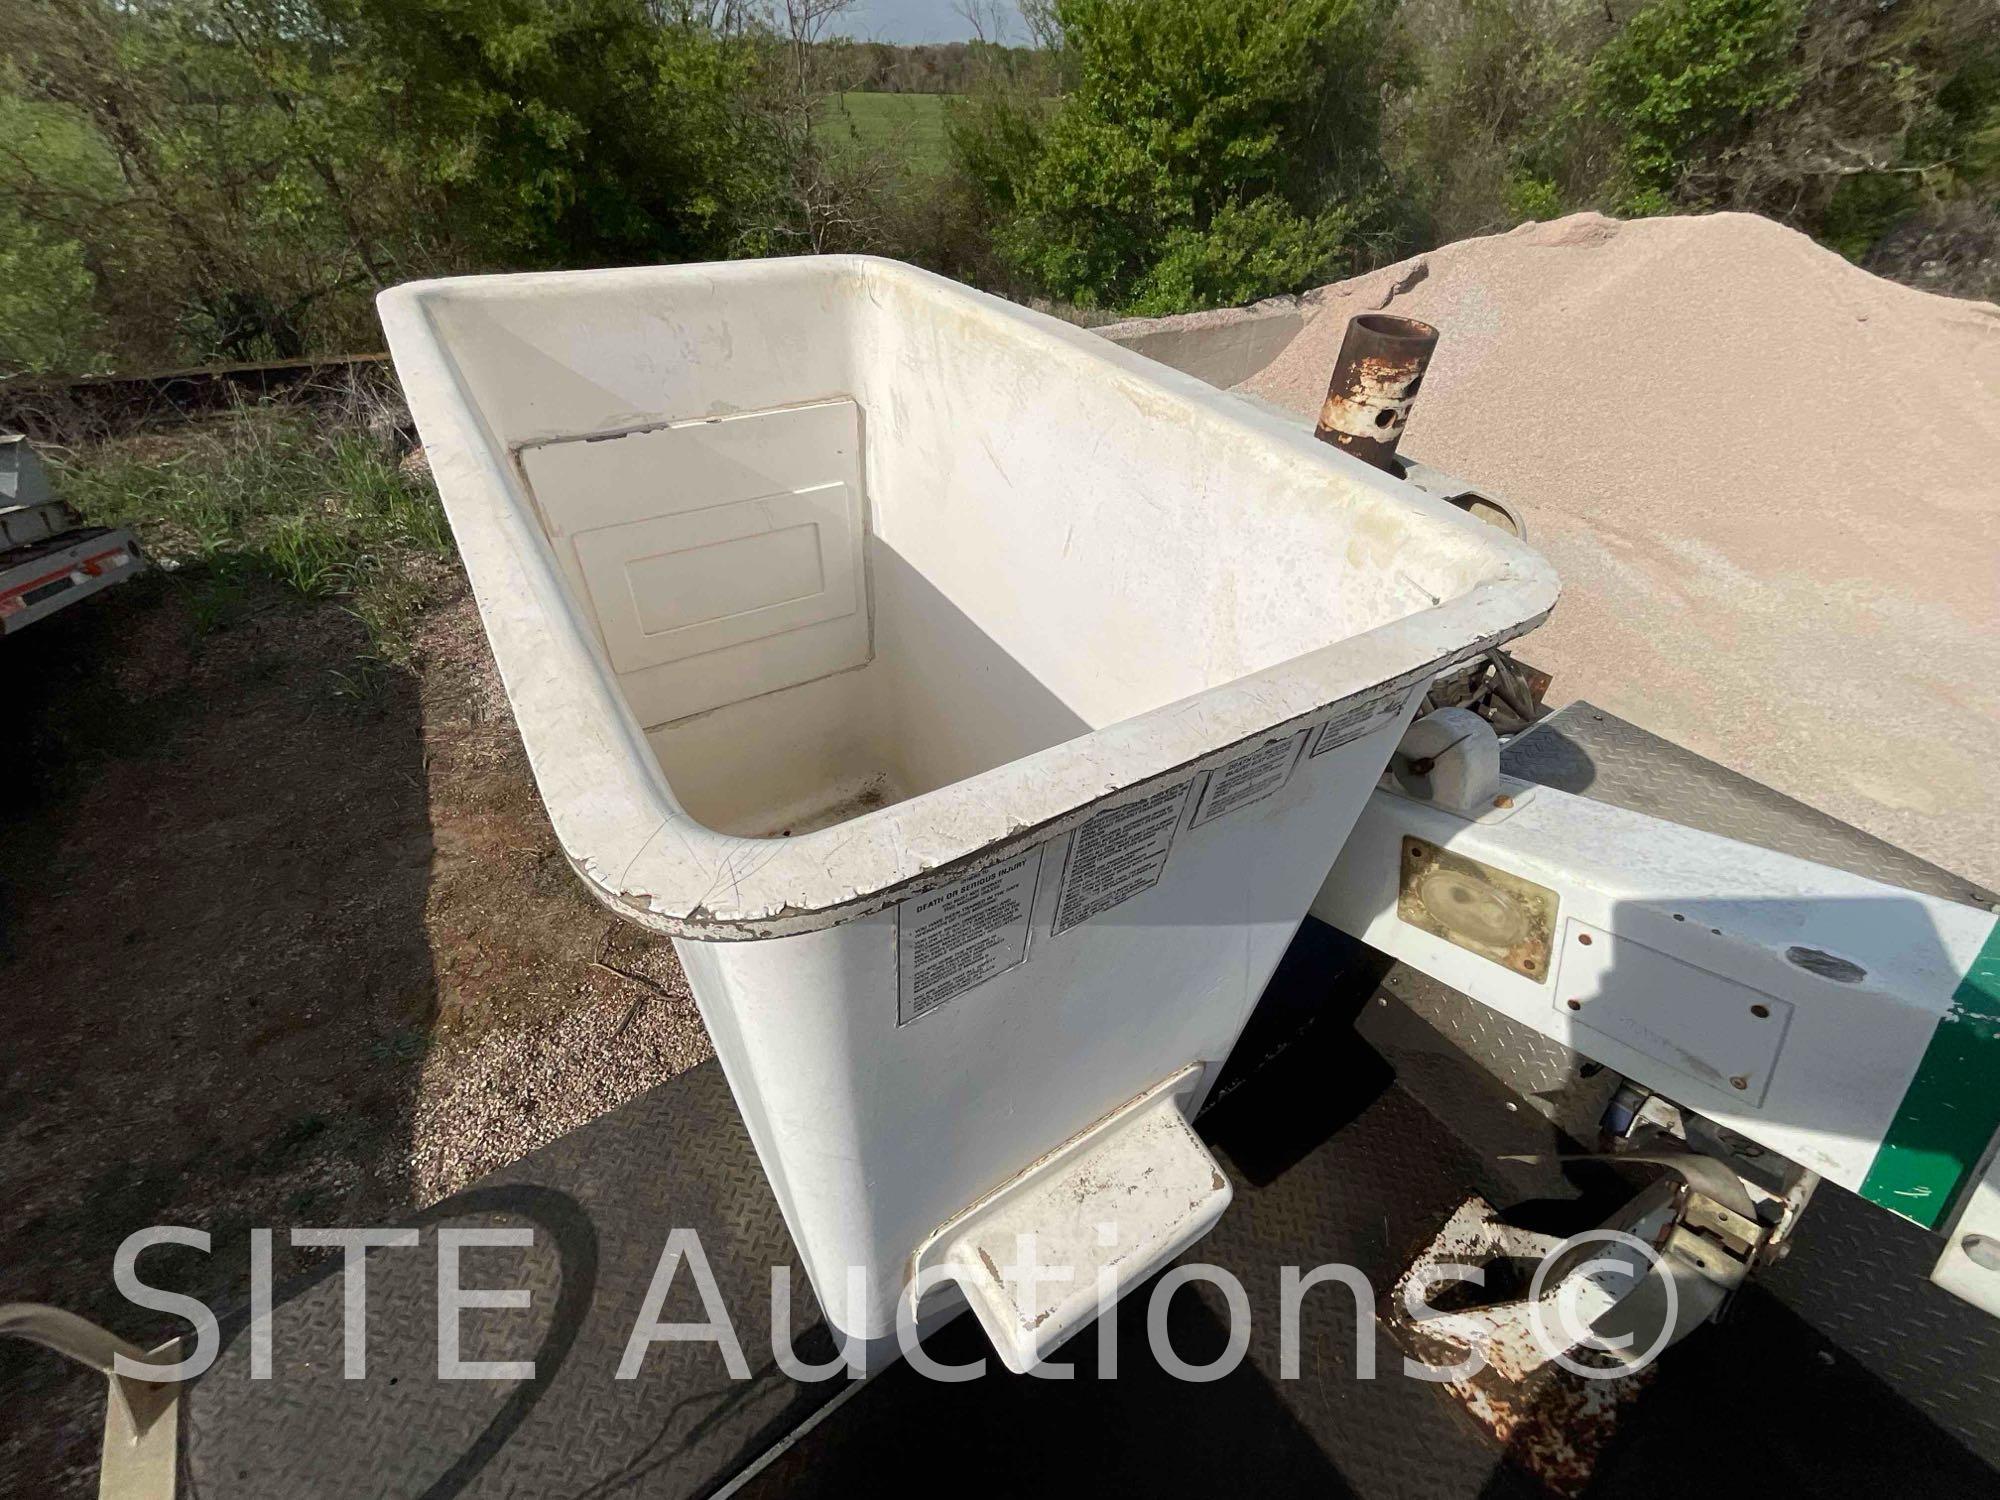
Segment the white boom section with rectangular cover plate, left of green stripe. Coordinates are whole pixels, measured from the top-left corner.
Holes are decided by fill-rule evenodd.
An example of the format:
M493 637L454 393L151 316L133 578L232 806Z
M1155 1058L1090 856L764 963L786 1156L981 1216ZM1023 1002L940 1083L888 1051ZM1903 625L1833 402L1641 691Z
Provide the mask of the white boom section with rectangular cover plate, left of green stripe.
M1556 890L1552 974L1402 922L1404 836ZM1994 924L1546 786L1480 822L1378 790L1312 912L1850 1190Z

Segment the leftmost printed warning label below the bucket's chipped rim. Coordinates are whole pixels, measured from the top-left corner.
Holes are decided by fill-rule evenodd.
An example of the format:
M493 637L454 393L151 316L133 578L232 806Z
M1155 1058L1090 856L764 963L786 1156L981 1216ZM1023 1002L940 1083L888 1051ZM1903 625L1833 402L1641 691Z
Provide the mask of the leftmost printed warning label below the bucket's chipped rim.
M962 996L1028 958L1042 848L1016 854L896 908L896 1024Z

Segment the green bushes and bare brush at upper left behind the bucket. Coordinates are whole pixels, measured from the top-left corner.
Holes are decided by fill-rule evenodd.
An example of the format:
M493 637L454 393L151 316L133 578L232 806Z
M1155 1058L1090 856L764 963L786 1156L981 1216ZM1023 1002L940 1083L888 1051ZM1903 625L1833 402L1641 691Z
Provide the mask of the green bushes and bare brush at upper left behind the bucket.
M0 0L0 374L372 348L408 276L736 252L756 38L648 0ZM74 296L56 296L68 306ZM36 314L36 316L30 316Z

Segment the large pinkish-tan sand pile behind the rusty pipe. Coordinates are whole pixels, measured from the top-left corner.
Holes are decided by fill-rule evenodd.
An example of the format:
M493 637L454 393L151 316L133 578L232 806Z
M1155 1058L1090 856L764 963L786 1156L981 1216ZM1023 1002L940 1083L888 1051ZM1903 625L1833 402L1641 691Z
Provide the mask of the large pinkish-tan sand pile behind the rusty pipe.
M1348 316L1442 330L1404 452L1562 574L1520 654L2000 886L2000 308L1748 214L1580 214L1314 292L1246 382L1318 408Z

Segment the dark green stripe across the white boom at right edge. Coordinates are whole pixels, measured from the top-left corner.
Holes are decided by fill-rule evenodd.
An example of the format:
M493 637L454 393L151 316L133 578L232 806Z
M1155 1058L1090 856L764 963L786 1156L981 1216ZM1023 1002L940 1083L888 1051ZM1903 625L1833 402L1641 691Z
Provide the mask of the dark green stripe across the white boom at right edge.
M1952 990L1952 1008L1938 1020L1868 1166L1862 1198L1936 1228L1986 1156L1994 1130L2000 1130L2000 922Z

